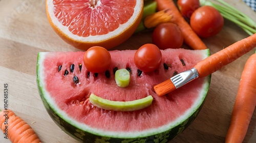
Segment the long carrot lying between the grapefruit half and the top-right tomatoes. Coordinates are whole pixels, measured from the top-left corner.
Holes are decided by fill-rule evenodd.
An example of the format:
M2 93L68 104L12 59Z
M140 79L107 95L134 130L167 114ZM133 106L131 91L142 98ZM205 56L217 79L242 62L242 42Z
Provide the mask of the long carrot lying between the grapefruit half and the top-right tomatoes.
M204 42L198 37L198 35L192 30L187 21L183 18L182 14L176 7L173 0L156 0L157 10L167 10L173 15L170 22L175 23L180 28L184 37L184 42L193 49L207 49Z

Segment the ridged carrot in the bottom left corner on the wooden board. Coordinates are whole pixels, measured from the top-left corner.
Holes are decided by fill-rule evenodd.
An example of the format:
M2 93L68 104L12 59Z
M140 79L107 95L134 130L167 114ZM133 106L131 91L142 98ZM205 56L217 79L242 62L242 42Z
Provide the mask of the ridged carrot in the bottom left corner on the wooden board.
M11 142L41 142L34 130L23 119L8 109L0 112L0 128Z

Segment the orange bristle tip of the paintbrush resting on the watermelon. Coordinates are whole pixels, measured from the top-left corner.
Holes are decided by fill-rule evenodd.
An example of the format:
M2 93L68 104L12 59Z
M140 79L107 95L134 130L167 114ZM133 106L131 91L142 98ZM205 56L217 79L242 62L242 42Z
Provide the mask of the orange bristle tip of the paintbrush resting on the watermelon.
M163 96L169 92L172 92L176 89L174 83L172 80L167 79L163 81L162 83L159 83L155 85L154 90L157 93L158 96Z

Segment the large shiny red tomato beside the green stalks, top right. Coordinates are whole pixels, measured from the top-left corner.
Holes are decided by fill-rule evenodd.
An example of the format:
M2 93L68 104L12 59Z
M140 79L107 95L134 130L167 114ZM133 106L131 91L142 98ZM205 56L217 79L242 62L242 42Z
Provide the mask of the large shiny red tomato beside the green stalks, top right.
M218 34L224 25L220 12L211 6L198 8L190 17L190 26L202 38Z

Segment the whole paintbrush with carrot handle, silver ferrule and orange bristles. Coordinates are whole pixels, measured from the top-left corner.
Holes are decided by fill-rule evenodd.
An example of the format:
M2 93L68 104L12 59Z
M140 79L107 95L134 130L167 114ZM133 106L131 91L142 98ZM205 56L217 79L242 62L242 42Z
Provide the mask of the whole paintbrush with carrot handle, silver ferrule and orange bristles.
M183 71L162 83L155 85L154 90L158 96L163 96L196 78L202 78L214 73L221 67L237 60L254 47L256 47L256 34L233 43L232 45L208 56L193 68Z

